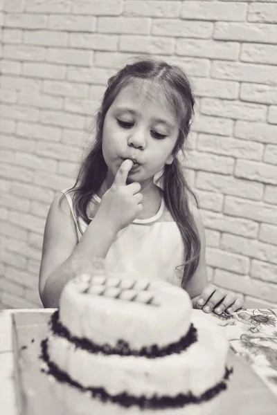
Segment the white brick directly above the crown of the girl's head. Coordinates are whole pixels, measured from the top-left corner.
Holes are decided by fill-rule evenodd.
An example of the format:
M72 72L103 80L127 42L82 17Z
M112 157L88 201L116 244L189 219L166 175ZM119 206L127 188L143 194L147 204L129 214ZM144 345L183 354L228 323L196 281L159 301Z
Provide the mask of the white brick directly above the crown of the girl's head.
M118 50L124 52L159 53L170 55L174 51L174 39L167 37L127 36L119 38Z

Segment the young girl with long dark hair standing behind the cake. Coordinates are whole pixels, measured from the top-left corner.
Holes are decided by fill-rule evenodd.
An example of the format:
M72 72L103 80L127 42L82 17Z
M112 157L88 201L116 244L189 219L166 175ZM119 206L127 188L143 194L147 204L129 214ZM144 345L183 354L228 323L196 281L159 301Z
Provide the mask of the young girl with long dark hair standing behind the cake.
M205 312L242 306L207 284L204 227L179 157L194 104L186 75L166 62L138 59L109 79L75 185L48 212L44 306L56 307L76 269L89 270L96 258L108 270L178 284Z

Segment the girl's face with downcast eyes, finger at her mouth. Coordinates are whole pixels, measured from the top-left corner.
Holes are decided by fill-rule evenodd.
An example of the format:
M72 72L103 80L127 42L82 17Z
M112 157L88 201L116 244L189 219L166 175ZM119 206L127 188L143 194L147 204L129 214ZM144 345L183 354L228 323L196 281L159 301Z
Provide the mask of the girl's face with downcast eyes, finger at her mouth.
M105 116L102 153L108 185L126 158L134 162L128 183L136 181L143 187L153 183L154 174L165 164L172 163L179 134L175 113L158 86L149 93L145 84L132 83L121 89Z

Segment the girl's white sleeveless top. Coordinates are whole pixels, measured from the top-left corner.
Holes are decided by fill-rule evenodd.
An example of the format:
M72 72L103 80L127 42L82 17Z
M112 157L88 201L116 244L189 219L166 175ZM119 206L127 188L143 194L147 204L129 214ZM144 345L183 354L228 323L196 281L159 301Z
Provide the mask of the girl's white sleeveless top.
M65 194L66 190L62 190ZM78 229L77 218L73 210L71 194L65 194L76 225L78 241L82 233ZM93 196L95 212L101 203L100 197ZM93 217L89 218L93 220ZM79 218L82 232L87 229L87 223ZM171 284L181 285L185 259L184 242L177 223L166 208L162 199L157 214L149 219L135 219L116 235L105 264L107 270L126 272L129 275L137 273L147 277L161 278ZM178 267L176 269L176 267Z

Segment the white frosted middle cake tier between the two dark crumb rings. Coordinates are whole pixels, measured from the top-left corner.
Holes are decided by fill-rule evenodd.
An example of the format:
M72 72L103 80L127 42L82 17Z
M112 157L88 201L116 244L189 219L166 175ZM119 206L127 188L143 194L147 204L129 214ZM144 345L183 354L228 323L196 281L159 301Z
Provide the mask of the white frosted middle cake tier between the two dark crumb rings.
M220 382L229 344L217 326L195 320L197 342L161 358L89 353L64 338L48 339L51 360L84 387L104 387L110 395L199 396Z

